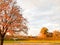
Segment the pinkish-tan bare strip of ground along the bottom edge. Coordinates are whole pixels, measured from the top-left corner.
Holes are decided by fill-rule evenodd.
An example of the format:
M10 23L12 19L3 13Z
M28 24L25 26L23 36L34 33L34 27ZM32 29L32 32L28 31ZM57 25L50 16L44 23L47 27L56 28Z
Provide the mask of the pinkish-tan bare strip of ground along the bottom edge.
M60 45L59 43L4 43L4 45Z

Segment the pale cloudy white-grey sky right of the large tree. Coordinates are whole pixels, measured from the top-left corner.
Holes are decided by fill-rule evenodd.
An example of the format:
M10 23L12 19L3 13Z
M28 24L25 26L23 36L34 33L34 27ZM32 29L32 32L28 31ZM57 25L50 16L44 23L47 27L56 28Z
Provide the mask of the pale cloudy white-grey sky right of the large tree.
M28 20L28 35L37 36L42 27L60 30L60 0L17 0Z

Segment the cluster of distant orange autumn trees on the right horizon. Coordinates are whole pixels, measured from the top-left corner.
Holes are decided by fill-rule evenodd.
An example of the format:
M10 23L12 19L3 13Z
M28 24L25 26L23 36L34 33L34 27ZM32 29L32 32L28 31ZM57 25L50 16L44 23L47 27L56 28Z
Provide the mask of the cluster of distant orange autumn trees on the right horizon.
M48 32L48 28L43 27L39 34L39 39L52 39L52 40L59 40L60 39L60 32L54 30L53 32Z

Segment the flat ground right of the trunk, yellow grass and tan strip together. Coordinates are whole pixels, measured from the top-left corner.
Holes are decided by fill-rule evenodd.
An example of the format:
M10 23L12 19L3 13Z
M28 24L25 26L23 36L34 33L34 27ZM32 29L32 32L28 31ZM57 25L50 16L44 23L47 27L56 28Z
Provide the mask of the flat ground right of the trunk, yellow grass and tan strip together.
M4 45L60 45L60 41L52 40L4 41Z

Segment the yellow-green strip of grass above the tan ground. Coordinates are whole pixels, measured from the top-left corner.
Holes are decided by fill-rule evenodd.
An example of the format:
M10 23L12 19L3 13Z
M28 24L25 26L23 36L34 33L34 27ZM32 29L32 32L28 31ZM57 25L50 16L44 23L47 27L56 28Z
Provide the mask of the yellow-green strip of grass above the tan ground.
M60 40L18 40L18 41L4 41L4 43L20 43L20 42L25 42L25 43L60 43Z

